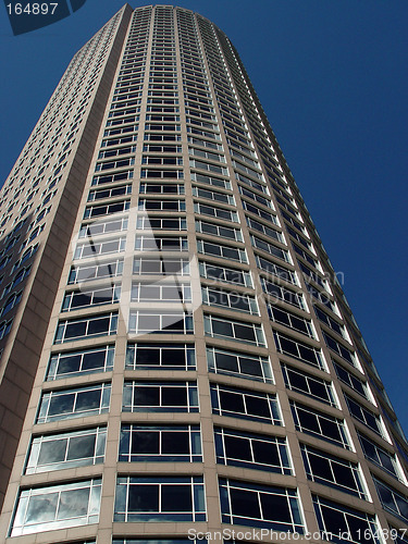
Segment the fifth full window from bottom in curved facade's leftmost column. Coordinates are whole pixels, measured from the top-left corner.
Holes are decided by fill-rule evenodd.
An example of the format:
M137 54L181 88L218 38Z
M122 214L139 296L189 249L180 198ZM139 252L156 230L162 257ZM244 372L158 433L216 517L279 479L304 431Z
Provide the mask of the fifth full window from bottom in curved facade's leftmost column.
M116 334L118 313L102 313L89 318L60 321L55 333L55 344Z

